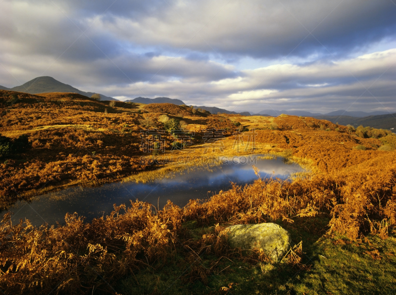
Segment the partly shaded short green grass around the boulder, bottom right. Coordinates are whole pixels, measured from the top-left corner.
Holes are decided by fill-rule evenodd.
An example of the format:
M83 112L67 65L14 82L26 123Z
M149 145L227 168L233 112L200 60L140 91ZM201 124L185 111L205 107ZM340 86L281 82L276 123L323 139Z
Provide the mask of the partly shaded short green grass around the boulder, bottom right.
M369 236L362 243L323 236L328 218L299 220L286 227L294 243L303 243L302 263L270 264L238 253L227 257L196 255L176 245L176 255L165 263L136 270L117 284L121 294L394 294L396 238ZM184 223L186 240L214 233L214 226ZM377 252L378 251L378 252ZM222 289L223 288L223 289ZM227 291L228 289L228 291ZM223 291L222 291L223 290Z

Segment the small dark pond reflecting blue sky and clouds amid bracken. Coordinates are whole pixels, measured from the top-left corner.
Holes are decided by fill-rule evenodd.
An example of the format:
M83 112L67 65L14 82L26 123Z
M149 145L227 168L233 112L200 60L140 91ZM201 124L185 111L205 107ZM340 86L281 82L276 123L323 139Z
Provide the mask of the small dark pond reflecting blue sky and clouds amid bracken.
M263 159L249 156L259 169L261 178L277 177L287 179L290 174L302 172L299 165L287 163L282 158ZM252 183L257 176L252 164L232 161L214 167L193 167L177 172L172 177L156 179L147 183L113 182L99 187L71 187L61 191L34 197L30 203L18 202L9 211L13 212L12 222L28 218L34 225L45 222L64 223L67 212L77 212L87 221L106 215L113 210L113 204L130 204L129 200L149 202L163 208L167 200L183 207L190 199L205 199L220 190L231 188L231 182L239 185ZM6 211L0 212L1 216Z

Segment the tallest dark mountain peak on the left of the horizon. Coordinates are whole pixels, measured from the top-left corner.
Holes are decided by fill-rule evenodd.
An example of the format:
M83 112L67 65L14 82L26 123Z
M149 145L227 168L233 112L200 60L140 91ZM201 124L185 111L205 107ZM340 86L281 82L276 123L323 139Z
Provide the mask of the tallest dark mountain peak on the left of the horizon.
M30 94L48 93L48 92L72 92L72 93L79 93L81 95L85 95L88 97L91 97L95 93L95 92L81 91L77 88L74 88L73 86L59 82L49 76L37 77L33 80L30 80L29 82L26 82L23 85L15 86L12 88L7 88L0 85L0 89L19 91ZM117 99L100 94L100 100L117 100Z

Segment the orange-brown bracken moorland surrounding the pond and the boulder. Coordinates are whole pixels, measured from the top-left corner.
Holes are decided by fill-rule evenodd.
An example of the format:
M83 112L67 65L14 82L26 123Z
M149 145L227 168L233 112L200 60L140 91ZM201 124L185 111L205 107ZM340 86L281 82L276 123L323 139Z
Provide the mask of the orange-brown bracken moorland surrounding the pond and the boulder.
M68 186L151 179L191 163L142 163L141 130L178 128L187 149L205 154L206 129L254 130L253 153L294 161L308 172L290 181L258 178L207 201L114 204L65 225L1 221L0 288L5 294L391 294L396 277L396 135L326 120L210 114L186 105L98 101L76 93L0 90L0 208ZM186 131L187 132L187 131ZM161 172L162 171L162 172ZM144 175L144 176L138 176ZM134 178L135 177L135 178ZM146 178L145 178L146 177ZM150 178L151 177L151 178ZM281 263L257 250L229 249L231 224L276 222L295 243Z

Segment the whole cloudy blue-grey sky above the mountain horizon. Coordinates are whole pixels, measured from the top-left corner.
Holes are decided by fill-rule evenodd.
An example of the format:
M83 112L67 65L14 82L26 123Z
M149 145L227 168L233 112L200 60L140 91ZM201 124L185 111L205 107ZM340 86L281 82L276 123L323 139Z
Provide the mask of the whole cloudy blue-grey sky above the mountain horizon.
M0 85L396 113L396 0L0 0Z

